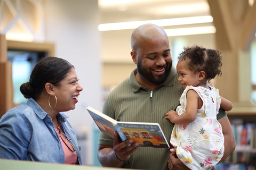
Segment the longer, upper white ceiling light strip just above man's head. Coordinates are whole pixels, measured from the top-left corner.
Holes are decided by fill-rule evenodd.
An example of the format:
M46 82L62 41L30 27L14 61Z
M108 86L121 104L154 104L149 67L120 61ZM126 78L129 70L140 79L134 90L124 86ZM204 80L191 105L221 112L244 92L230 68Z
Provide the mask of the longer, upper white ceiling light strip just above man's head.
M209 23L213 22L213 18L210 15L207 16L193 16L186 18L173 18L162 20L147 20L147 21L133 21L133 22L116 22L116 23L102 23L98 25L99 31L111 31L111 30L124 30L135 29L142 24L153 23L159 27L172 26L172 25L185 25L196 23Z

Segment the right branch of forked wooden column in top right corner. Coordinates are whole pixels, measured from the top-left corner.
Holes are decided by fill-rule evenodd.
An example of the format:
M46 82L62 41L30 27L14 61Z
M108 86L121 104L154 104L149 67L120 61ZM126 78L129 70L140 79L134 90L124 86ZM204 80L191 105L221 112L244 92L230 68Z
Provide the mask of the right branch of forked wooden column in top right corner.
M256 33L256 2L253 3L253 6L246 13L241 31L240 46L243 50L248 50Z

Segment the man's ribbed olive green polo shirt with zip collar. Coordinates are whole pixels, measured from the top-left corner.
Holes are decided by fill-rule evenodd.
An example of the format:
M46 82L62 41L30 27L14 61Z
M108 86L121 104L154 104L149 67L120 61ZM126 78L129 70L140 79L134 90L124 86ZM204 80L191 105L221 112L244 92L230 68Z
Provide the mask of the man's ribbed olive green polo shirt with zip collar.
M135 79L137 69L133 70L130 78L125 79L110 92L103 106L102 113L123 122L152 122L159 123L165 137L170 142L174 124L166 120L165 114L180 105L183 88L178 81L174 67L165 82L150 91L140 86ZM218 114L219 118L226 113ZM170 143L169 143L170 144ZM113 145L113 139L100 132L99 145ZM171 145L170 145L171 146ZM167 160L170 149L140 147L130 156L130 164L124 168L134 169L168 169Z

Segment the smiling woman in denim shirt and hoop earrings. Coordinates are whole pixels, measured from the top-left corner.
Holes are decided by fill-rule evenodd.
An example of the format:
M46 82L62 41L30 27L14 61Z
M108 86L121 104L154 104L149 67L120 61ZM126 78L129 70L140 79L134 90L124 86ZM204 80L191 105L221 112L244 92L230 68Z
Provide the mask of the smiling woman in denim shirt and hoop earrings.
M81 147L62 112L75 109L82 90L69 62L39 61L29 82L20 86L27 102L0 119L0 158L81 165Z

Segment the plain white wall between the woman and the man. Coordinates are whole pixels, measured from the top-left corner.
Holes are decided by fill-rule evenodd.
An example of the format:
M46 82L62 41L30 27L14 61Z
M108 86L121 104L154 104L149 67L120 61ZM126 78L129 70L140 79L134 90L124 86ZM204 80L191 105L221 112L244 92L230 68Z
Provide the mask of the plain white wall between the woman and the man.
M77 135L87 131L86 165L92 165L92 118L87 106L101 110L100 15L97 1L45 1L45 41L55 44L55 56L68 60L76 67L79 83L84 90L76 108L66 114Z

